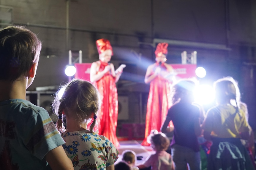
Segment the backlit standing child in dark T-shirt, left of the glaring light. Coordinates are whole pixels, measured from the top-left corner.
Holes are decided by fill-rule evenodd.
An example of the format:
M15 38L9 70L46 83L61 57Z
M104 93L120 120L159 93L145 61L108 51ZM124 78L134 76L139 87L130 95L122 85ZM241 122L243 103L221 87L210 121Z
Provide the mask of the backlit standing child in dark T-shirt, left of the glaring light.
M171 151L176 170L200 170L200 152L197 137L201 135L200 108L194 104L196 81L181 79L172 87L173 105L168 110L161 132L166 133L170 121L174 131Z

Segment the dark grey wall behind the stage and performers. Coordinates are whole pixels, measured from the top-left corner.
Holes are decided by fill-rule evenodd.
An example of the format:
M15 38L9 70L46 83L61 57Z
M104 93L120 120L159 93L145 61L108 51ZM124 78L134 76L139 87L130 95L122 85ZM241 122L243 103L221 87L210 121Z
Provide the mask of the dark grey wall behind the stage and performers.
M132 124L142 127L134 135L143 136L149 91L144 76L157 43L167 42L170 64L181 64L183 51L197 51L197 66L207 72L200 82L237 80L256 129L255 0L0 0L0 27L8 25L25 25L42 41L27 97L50 113L54 93L70 79L64 73L69 50L73 59L81 51L82 62L91 63L99 59L95 41L107 38L111 62L116 68L127 65L117 83L118 133Z

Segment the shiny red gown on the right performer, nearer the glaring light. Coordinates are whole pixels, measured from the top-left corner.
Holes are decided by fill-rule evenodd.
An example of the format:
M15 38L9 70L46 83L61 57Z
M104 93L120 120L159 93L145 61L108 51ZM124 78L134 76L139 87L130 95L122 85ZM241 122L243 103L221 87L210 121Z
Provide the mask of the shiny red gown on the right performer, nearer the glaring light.
M156 67L154 68L154 70ZM160 132L162 123L166 119L168 108L170 108L170 82L162 76L167 74L167 69L161 65L160 74L150 82L148 94L145 138L141 145L149 146L147 137L151 130L156 129ZM154 74L154 72L152 73Z

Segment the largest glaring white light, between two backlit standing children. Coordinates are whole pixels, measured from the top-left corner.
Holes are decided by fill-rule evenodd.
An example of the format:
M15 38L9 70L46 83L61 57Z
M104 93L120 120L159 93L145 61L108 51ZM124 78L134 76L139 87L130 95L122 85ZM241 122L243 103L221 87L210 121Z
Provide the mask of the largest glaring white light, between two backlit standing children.
M214 89L210 85L199 85L195 89L195 101L201 105L212 103L214 97Z

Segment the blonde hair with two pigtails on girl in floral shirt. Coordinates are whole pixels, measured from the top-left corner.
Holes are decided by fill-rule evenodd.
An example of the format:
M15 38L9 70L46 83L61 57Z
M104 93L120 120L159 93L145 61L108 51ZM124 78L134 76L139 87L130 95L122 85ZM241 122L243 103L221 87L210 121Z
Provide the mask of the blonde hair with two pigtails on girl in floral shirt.
M91 82L80 79L71 80L56 93L53 102L53 112L59 116L56 123L57 129L60 132L65 131L62 121L64 112L66 117L75 119L78 124L88 123L93 116L90 131L94 132L100 102L99 92Z

